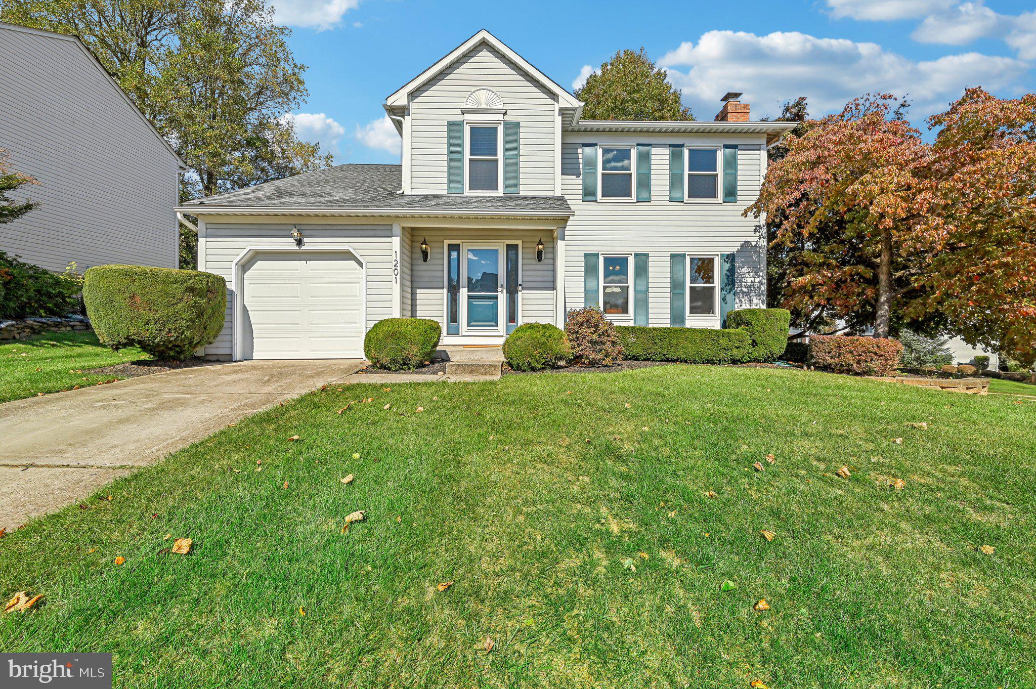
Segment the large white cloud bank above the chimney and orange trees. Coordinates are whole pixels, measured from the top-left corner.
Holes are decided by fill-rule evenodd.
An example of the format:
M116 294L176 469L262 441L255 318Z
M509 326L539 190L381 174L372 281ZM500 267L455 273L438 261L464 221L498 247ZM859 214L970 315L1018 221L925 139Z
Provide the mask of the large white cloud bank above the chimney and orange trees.
M659 64L700 119L711 118L720 96L731 90L744 91L753 119L777 114L781 103L800 95L818 115L866 92L906 95L920 118L942 110L966 86L1016 91L1028 68L1013 58L978 53L915 62L871 42L743 31L710 31L697 44L682 44Z

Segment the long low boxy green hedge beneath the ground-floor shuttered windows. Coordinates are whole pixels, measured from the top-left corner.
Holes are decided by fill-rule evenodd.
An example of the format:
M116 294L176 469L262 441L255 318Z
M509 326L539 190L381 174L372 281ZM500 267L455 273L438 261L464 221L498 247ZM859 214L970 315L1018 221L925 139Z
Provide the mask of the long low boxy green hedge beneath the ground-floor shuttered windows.
M752 338L745 329L620 325L618 340L628 360L739 364L751 357Z

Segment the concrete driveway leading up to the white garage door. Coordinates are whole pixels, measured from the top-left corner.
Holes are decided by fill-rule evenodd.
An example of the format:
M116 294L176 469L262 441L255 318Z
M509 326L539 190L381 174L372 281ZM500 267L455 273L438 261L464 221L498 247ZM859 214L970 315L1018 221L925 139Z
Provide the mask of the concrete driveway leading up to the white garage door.
M338 382L363 364L210 364L0 404L0 528L81 500L228 424Z

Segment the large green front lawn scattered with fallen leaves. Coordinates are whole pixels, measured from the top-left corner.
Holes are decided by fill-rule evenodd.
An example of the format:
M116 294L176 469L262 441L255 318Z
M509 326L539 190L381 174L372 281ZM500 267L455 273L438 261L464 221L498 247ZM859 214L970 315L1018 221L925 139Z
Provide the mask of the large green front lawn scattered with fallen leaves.
M329 387L0 541L0 594L46 595L0 652L113 652L118 687L1032 687L1015 401L704 366Z

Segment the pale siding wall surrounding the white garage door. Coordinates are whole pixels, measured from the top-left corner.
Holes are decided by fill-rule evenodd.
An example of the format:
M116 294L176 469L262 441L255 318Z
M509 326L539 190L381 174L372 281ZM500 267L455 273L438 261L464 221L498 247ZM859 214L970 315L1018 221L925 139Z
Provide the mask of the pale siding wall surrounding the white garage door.
M392 317L392 226L307 224L305 218L287 219L276 223L227 222L226 219L205 217L205 262L199 269L226 279L227 315L223 332L215 342L205 347L205 356L230 358L234 304L233 263L252 247L295 249L291 228L296 225L306 237L304 249L347 246L367 265L367 328L384 318ZM419 239L420 241L420 239ZM401 252L402 253L402 252ZM419 259L420 260L420 259Z

